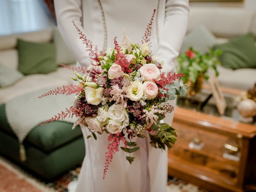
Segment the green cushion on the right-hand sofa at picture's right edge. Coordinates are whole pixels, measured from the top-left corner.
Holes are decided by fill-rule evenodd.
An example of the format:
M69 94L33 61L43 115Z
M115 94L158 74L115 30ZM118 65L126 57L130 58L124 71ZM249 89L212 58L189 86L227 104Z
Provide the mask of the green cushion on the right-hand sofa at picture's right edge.
M216 45L223 51L220 62L226 68L256 68L256 46L254 36L247 34L232 38L230 42Z

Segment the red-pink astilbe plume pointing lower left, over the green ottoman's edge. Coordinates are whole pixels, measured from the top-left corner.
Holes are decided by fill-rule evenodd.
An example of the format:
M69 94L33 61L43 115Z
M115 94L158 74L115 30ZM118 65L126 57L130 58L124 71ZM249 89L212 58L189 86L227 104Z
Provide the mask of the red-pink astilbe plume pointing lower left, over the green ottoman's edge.
M55 115L54 117L50 118L49 120L43 122L42 124L40 124L40 126L53 122L53 121L59 121L59 120L64 120L65 118L72 118L74 116L81 116L80 110L74 106L70 107L70 108L66 108L65 111L62 111L60 113L58 113L58 115Z

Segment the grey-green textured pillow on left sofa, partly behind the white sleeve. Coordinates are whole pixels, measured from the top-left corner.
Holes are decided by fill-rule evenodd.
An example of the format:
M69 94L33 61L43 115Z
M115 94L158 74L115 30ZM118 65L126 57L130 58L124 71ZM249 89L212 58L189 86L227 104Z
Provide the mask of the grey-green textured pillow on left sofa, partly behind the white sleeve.
M57 64L74 64L76 59L68 49L66 43L62 39L60 32L57 28L53 30L53 41L56 46L56 63Z

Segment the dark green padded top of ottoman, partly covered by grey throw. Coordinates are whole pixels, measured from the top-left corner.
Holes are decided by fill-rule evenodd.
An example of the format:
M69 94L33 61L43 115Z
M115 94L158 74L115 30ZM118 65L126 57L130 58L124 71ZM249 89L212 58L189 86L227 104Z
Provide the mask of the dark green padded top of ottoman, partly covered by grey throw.
M6 120L5 105L0 105L0 130L15 135ZM76 140L82 136L79 126L72 130L72 124L68 122L50 122L43 126L36 126L26 137L25 141L40 148L45 152L50 152Z

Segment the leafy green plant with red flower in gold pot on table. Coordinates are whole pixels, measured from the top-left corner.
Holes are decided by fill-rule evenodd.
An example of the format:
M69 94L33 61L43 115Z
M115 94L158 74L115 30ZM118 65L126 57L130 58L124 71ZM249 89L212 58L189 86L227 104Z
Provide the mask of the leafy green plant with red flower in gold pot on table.
M208 69L212 68L218 76L216 64L219 64L218 56L222 53L221 50L210 49L208 53L202 54L192 47L186 53L178 57L179 72L186 74L182 77L184 83L188 83L190 89L188 94L194 96L202 89L203 80L208 80Z

